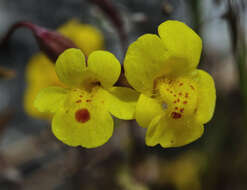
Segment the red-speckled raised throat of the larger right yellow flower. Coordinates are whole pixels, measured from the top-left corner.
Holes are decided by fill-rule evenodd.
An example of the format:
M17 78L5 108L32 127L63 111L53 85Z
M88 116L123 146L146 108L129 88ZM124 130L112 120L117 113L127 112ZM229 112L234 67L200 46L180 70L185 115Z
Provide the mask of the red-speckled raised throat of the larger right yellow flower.
M196 112L197 86L191 79L160 78L157 81L156 90L160 95L160 101L166 105L165 109L172 119L188 117Z

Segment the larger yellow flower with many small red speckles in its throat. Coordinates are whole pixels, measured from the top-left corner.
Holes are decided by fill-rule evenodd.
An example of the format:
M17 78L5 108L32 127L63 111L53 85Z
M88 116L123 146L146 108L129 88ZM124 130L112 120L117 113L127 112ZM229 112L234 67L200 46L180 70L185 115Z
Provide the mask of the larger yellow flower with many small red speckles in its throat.
M128 48L124 69L128 82L141 95L136 120L148 128L146 144L177 147L198 139L213 116L212 77L196 69L200 37L179 21L167 21L159 36L145 34Z

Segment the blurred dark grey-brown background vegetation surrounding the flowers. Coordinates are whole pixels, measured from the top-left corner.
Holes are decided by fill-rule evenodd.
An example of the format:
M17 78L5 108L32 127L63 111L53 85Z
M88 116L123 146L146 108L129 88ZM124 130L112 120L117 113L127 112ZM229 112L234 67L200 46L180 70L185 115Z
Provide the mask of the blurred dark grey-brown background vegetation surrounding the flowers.
M116 12L104 14L107 7L97 6L96 0L1 0L0 39L20 20L55 30L77 18L97 27L104 34L105 49L123 62L125 44L144 33L157 33L165 20L185 22L203 39L200 67L216 83L216 110L204 135L180 148L150 148L145 146L145 131L134 121L116 120L113 138L100 148L60 143L49 122L24 112L26 66L39 49L31 32L19 29L0 50L0 189L247 189L246 1L119 0L112 4L123 26L116 24L119 18L111 22ZM125 33L119 38L119 30L128 40Z

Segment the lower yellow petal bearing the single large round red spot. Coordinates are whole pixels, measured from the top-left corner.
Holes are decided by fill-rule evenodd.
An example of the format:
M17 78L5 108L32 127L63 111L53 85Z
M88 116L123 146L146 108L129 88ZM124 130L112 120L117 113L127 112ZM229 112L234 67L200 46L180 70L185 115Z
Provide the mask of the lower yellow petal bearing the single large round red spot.
M52 131L59 140L86 148L101 146L109 140L113 119L97 96L81 90L70 93L65 109L59 110L52 120Z

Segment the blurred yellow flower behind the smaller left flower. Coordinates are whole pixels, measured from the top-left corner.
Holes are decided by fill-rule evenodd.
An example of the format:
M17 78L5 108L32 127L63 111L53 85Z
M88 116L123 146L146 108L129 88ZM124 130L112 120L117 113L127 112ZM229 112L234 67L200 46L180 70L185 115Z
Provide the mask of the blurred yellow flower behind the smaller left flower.
M93 26L81 24L73 19L62 25L58 32L71 39L87 56L104 48L102 34ZM61 86L54 64L43 53L34 55L26 69L27 88L24 95L25 111L36 118L50 119L51 114L41 113L33 106L38 92L48 86Z

